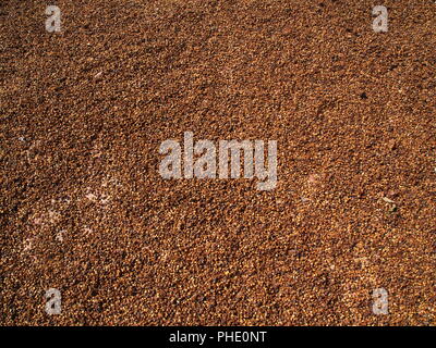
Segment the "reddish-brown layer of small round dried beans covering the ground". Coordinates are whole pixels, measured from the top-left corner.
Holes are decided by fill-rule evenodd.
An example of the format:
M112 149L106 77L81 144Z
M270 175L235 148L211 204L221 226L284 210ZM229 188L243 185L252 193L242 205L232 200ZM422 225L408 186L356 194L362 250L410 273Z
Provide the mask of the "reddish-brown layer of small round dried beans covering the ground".
M0 3L0 324L436 324L433 1L47 4ZM164 181L185 130L277 188Z

